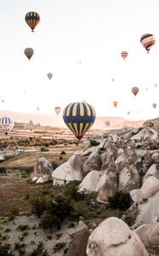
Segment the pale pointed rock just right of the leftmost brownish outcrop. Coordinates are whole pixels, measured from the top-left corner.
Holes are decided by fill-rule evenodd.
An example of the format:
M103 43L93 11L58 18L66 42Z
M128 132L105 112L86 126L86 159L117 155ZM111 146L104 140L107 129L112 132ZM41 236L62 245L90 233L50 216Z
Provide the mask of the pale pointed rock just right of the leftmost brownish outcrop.
M57 167L53 174L53 184L64 184L73 180L82 180L82 160L76 154Z

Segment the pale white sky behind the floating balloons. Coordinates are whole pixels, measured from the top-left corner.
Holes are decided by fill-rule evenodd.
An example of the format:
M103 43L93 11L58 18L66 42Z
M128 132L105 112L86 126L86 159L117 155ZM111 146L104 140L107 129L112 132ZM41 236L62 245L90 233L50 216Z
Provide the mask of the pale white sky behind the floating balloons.
M158 117L158 0L0 0L0 7L1 110L56 115L56 106L62 113L86 101L97 116ZM29 11L41 17L35 32L26 24ZM140 44L145 33L156 38L149 55Z

